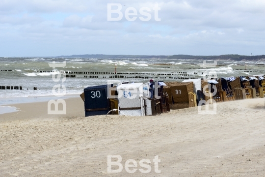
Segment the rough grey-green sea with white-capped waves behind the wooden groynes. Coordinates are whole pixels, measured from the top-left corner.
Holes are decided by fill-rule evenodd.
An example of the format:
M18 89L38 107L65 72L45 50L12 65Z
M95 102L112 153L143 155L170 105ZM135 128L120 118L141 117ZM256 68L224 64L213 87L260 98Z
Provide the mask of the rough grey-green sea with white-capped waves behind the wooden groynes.
M66 78L64 83L53 82L52 75L58 71L40 73L38 71L52 71L53 68L49 63L66 61L66 66L56 68L58 71L75 71L75 72L114 72L116 64L116 72L122 73L142 73L137 75L123 76L147 76L148 79L136 78L118 78L121 82L148 82L149 77L159 81L179 81L181 79L170 79L169 77L195 77L202 78L206 71L215 71L217 77L228 76L251 76L254 74L264 74L265 62L246 62L246 61L217 61L217 67L202 68L199 64L203 60L196 59L67 59L67 58L0 58L0 86L22 86L22 90L0 89L0 98L11 97L34 97L53 95L53 87L56 84L63 84L66 87L66 94L81 94L83 89L90 86L107 84L109 76L115 74L70 74L76 75L76 78ZM207 61L209 63L213 61ZM192 68L192 69L183 69ZM262 72L244 72L234 69L260 69ZM183 74L172 74L172 72L187 72L192 76L183 76ZM152 73L146 75L145 73ZM197 73L197 74L194 74ZM98 76L98 78L84 78L84 76ZM105 78L106 77L106 78ZM156 78L158 77L158 78ZM159 79L159 77L165 77ZM36 87L37 90L33 90ZM2 99L3 100L3 99Z

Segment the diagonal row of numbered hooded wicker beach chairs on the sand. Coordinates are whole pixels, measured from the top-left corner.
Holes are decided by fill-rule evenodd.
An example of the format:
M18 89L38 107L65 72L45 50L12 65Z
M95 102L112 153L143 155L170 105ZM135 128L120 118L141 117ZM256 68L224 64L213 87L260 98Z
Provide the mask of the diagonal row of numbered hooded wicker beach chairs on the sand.
M80 96L88 117L107 114L154 116L171 109L264 97L264 94L265 78L249 76L102 85L85 88Z

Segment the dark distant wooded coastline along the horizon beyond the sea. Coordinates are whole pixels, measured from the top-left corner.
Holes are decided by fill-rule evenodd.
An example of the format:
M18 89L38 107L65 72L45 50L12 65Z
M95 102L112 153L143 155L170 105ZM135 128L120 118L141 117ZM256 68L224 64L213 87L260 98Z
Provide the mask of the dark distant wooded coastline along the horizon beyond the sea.
M173 55L173 56L145 56L145 55L72 55L58 56L56 58L86 58L86 59L221 59L221 60L261 60L261 56L241 56L241 55L220 55L220 56L192 56L192 55Z

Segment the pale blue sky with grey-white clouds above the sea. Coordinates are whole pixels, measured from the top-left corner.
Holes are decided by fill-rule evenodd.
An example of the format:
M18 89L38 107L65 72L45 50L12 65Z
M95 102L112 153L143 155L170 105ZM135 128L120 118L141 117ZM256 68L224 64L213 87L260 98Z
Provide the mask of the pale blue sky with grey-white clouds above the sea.
M107 3L122 5L120 21L107 21ZM142 7L151 20L139 19ZM265 0L0 0L0 57L263 55L264 9Z

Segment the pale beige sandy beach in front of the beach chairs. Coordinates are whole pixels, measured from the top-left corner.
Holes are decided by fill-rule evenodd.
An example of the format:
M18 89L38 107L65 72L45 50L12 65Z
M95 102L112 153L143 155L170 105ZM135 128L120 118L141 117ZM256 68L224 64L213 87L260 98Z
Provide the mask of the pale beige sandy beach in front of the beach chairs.
M219 103L216 115L198 115L195 107L87 118L80 98L66 101L64 116L48 116L47 103L16 105L23 112L0 115L1 177L265 177L262 98ZM149 159L152 170L107 173L107 155L121 155L123 166L134 159L137 169Z

